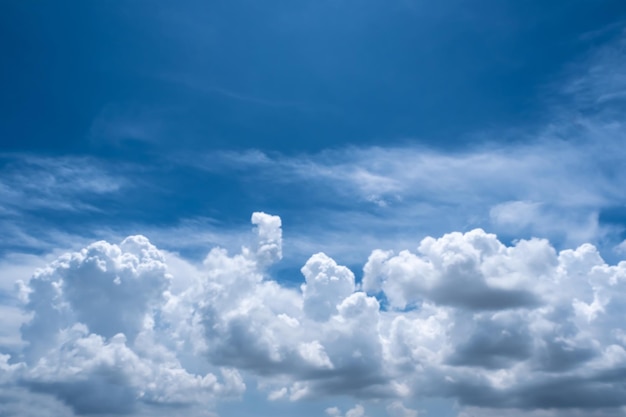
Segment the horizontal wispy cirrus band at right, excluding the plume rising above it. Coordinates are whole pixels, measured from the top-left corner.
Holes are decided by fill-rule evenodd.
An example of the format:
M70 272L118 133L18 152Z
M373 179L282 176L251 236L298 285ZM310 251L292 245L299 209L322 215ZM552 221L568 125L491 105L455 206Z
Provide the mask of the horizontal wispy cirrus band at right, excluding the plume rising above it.
M626 174L615 158L617 128L598 122L581 127L578 137L568 141L546 131L528 144L458 153L412 146L296 157L224 152L201 165L234 170L275 187L304 188L305 199L321 209L332 201L339 209L326 221L340 230L352 227L364 213L374 213L354 226L358 234L377 224L381 230L411 229L430 219L422 225L427 233L482 226L509 236L538 235L578 245L615 239L621 230L600 221L603 210L626 203L616 181ZM346 211L355 213L350 218Z

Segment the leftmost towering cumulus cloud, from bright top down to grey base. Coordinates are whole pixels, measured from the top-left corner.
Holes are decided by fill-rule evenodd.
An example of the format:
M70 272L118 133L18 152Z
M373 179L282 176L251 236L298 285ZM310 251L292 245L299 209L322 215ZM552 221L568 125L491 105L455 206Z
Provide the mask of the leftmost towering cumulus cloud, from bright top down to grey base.
M22 326L23 362L6 372L77 415L239 395L236 370L190 372L163 344L169 330L159 316L171 280L161 252L143 236L61 256L22 284L32 317Z

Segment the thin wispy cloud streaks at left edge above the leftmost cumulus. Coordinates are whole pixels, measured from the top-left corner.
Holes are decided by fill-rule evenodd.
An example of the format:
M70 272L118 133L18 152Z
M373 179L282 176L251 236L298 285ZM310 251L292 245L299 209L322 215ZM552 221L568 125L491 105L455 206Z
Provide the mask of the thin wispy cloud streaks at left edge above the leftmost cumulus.
M0 155L0 253L50 253L86 243L65 225L110 211L104 202L132 188L124 164L113 168L91 157ZM72 216L67 222L67 216Z

